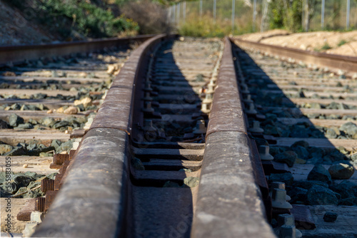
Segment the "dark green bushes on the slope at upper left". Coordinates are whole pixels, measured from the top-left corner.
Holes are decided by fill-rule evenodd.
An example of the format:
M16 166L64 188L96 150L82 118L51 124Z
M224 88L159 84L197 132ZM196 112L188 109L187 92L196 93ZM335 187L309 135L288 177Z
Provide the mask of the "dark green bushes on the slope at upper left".
M139 31L136 22L124 15L114 16L109 4L100 0L5 1L23 10L28 21L37 21L64 39L102 38Z

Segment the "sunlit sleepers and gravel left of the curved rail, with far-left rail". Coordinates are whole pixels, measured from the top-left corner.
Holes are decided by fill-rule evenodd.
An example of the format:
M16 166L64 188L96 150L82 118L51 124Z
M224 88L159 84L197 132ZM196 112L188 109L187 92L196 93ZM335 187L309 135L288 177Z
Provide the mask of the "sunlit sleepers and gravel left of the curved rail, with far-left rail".
M39 185L54 182L63 164L58 158L78 147L131 47L150 37L1 47L1 63L9 60L0 68L1 203L3 197L14 198L11 232L24 230L36 197L46 192ZM5 182L8 160L10 187ZM21 207L25 212L19 212ZM3 208L1 219L6 217Z

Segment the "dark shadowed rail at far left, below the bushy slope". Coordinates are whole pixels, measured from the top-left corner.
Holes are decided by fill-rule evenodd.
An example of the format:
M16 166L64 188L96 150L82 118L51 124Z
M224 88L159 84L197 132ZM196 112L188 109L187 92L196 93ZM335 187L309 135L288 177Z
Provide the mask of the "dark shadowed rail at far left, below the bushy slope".
M49 43L25 46L0 46L0 66L11 62L13 64L31 61L41 57L67 56L71 53L88 53L122 46L131 42L144 42L155 35L134 36L125 38L106 38L91 41L76 41L66 43Z

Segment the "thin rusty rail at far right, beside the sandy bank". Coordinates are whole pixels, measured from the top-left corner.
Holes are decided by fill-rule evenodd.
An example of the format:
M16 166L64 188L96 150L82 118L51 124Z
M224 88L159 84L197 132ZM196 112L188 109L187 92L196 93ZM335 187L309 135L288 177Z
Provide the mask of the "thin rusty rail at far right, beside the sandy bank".
M310 63L320 67L328 67L335 70L357 72L357 57L340 56L330 53L319 53L313 51L303 51L296 48L282 46L273 46L266 43L257 43L253 41L244 41L237 38L231 38L238 46L244 48L253 48L258 51L269 53L273 56L293 58L296 61Z

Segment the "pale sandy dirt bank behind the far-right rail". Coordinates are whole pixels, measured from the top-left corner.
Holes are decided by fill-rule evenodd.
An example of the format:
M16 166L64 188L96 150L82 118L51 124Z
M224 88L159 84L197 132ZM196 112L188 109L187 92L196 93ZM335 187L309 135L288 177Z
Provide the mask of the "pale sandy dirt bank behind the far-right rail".
M299 48L304 51L318 51L357 57L357 31L289 33L284 30L272 30L236 37L246 41L258 41L271 45Z

